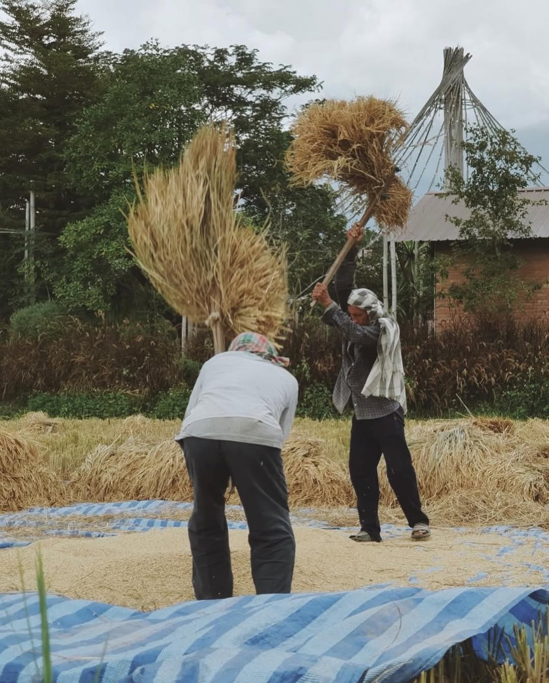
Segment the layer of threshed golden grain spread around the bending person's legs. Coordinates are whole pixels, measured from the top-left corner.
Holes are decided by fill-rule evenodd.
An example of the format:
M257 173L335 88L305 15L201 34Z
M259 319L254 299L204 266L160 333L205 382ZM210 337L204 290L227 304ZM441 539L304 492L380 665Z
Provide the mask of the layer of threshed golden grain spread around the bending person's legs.
M498 553L509 545L503 533L437 529L433 541L421 548L411 546L405 531L375 547L352 543L346 531L296 525L294 533L293 592L352 590L389 582L409 586L411 574L417 587L428 589L502 583L538 587L544 581L538 568L544 563L544 548L535 538L524 538L503 563ZM229 536L235 595L253 595L248 533L231 529ZM140 533L94 540L47 538L40 543L40 553L48 589L71 598L131 609L158 609L194 599L186 529L151 529L146 539ZM35 561L34 545L2 550L0 591L35 589ZM100 656L104 644L96 647Z

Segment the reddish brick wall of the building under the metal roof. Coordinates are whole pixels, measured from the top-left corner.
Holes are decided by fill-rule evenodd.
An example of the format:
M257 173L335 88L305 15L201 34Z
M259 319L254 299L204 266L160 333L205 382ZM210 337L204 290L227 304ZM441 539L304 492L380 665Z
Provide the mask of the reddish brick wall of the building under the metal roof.
M517 242L514 249L522 260L522 266L517 274L527 281L545 283L549 279L549 238L535 238ZM449 255L448 242L435 242L436 255ZM449 268L448 279L436 285L436 294L443 292L449 283L460 283L463 277L458 266ZM435 298L434 322L436 330L443 328L456 317L463 316L460 306L447 299ZM524 321L531 318L546 317L549 319L549 285L544 284L541 290L533 292L526 301L520 301L515 311L516 318Z

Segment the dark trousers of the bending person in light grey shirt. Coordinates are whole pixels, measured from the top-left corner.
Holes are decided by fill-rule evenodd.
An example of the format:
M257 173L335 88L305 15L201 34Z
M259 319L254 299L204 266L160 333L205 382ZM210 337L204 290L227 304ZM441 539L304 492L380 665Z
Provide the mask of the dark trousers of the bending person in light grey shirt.
M194 488L188 532L196 600L233 595L225 492L232 477L248 520L252 579L257 594L289 593L295 540L280 450L207 438L181 444Z

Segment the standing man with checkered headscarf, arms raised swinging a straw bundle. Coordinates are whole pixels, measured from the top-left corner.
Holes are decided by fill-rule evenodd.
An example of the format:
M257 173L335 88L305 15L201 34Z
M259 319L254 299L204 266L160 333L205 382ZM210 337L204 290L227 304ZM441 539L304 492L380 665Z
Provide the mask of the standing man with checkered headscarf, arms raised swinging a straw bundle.
M350 234L357 242L363 229L353 225ZM338 303L327 287L315 285L312 297L324 306L323 321L340 329L342 366L333 390L333 404L340 413L353 409L349 473L357 496L360 530L355 541L381 541L379 481L377 466L385 456L387 477L413 540L430 536L429 520L421 510L417 479L406 437L404 415L406 390L400 350L400 331L393 316L367 289L355 289L355 259L352 249L334 280Z

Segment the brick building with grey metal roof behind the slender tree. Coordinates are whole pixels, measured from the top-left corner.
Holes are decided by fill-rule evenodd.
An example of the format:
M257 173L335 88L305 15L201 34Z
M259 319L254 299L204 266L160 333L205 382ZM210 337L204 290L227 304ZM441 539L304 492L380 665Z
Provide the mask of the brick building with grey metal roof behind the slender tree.
M514 249L522 260L518 275L526 281L541 284L541 289L521 302L515 310L515 315L520 320L549 318L549 187L527 188L520 193L533 201L546 200L547 204L529 207L526 221L531 223L533 237L515 240L514 243ZM446 220L447 215L466 219L469 217L469 211L463 204L452 204L451 197L441 197L439 192L428 192L414 206L406 230L396 237L396 241L430 242L435 255L449 255L452 242L459 238L459 230L456 225ZM443 328L456 316L462 315L456 303L441 298L441 294L451 283L460 283L461 273L462 268L451 268L448 279L435 285L436 330Z

